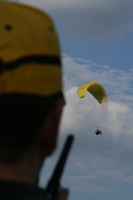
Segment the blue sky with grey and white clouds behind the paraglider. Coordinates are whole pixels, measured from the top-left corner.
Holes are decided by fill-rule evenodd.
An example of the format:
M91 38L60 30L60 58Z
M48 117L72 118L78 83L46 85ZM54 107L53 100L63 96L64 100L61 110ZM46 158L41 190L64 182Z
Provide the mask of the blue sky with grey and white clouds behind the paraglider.
M70 200L133 199L133 1L19 0L54 20L63 63L64 108L56 152L44 163L45 187L66 137L75 137L61 184ZM101 83L108 103L101 106L77 89ZM96 136L99 126L103 135Z

